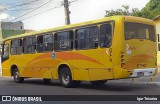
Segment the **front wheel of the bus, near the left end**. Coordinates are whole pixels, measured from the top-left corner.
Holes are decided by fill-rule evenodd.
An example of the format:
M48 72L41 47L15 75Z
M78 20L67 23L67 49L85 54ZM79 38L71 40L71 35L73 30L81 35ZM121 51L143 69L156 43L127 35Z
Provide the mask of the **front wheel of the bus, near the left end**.
M23 77L20 77L17 68L14 69L13 78L14 78L14 81L15 81L16 83L23 83L23 81L24 81L24 78L23 78Z

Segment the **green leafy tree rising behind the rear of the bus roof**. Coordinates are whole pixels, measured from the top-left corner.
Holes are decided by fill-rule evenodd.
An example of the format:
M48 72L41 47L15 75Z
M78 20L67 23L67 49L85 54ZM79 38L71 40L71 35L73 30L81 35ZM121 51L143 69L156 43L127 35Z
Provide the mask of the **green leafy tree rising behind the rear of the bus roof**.
M153 19L157 15L160 15L160 0L150 0L142 10L132 8L131 11L129 11L130 7L128 5L122 5L122 7L123 9L107 10L105 17L113 15L131 15Z

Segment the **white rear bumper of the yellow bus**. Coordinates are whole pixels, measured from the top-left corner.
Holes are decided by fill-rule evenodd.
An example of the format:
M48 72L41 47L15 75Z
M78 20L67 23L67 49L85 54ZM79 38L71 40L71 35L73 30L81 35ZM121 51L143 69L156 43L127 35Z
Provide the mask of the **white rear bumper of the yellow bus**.
M130 78L153 76L156 70L157 68L134 69Z

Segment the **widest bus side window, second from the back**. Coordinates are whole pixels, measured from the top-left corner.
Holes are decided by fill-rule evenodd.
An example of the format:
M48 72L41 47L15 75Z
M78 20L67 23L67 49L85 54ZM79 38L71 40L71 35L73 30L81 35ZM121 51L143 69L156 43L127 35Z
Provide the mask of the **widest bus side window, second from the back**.
M98 47L98 27L92 26L76 30L76 49L95 49Z

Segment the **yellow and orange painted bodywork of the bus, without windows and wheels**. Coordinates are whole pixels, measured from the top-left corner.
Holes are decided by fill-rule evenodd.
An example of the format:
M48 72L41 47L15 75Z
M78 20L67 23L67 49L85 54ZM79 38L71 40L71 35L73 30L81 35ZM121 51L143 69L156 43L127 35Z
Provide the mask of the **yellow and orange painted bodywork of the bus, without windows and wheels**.
M129 78L134 70L139 68L137 65L142 66L140 68L145 65L145 68L156 68L156 42L124 39L125 21L154 26L151 21L137 17L117 16L93 23L100 25L107 21L115 22L111 47L101 48L99 46L97 49L10 55L8 60L2 62L2 75L11 76L11 67L16 65L21 77L59 79L58 68L66 65L71 70L73 80L95 81ZM88 22L87 25L91 24L92 22ZM66 27L63 28L66 29ZM9 45L10 39L12 38L6 41ZM132 54L126 50L128 46L131 47ZM122 66L123 62L125 66ZM155 74L156 72L157 69Z

